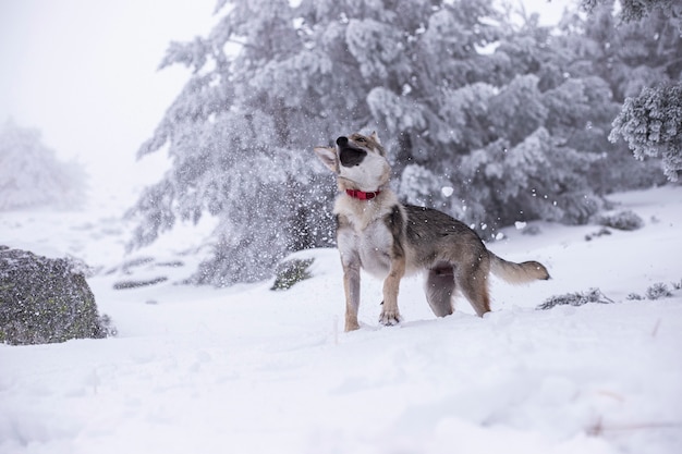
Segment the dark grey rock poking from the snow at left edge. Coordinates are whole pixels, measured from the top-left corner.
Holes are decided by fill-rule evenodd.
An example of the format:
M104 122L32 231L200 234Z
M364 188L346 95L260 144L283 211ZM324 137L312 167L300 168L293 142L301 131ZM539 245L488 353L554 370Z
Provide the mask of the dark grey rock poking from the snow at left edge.
M114 334L82 263L0 246L0 342L25 345Z

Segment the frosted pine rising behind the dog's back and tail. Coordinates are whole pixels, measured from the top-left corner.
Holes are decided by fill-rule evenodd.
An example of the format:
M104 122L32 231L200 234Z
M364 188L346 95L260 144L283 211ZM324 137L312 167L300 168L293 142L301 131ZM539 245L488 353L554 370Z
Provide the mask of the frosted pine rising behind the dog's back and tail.
M486 236L514 221L585 222L598 208L587 177L594 144L610 146L608 85L570 71L575 53L534 17L503 32L492 53L477 56L478 79L449 90L438 110L458 146L423 163L454 188L436 205Z

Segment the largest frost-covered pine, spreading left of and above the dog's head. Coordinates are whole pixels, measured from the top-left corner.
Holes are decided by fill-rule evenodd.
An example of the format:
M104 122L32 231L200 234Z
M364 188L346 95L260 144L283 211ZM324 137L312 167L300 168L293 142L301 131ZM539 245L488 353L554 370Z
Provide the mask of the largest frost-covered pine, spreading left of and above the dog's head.
M466 85L479 71L475 47L495 37L482 22L487 1L394 3L221 1L207 37L172 44L161 68L181 63L193 75L139 149L168 146L173 163L131 210L139 222L131 247L210 213L215 251L195 281L223 285L269 275L290 250L331 244L333 181L312 148L394 121L382 134L392 156L423 152L429 140L419 137L447 126L419 98Z

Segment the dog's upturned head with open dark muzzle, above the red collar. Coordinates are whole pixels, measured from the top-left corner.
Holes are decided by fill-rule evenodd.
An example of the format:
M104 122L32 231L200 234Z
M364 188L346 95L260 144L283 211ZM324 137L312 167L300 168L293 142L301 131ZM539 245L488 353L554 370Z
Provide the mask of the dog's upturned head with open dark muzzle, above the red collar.
M315 154L338 175L341 189L377 191L391 174L377 133L341 136L336 147L316 147Z

